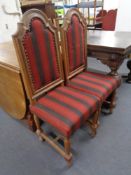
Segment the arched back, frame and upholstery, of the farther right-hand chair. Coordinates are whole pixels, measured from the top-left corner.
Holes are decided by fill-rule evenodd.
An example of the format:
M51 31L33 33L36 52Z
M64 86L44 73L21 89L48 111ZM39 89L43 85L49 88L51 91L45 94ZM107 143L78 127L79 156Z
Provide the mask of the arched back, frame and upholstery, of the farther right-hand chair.
M62 26L62 48L67 79L86 67L87 24L77 9L70 9Z

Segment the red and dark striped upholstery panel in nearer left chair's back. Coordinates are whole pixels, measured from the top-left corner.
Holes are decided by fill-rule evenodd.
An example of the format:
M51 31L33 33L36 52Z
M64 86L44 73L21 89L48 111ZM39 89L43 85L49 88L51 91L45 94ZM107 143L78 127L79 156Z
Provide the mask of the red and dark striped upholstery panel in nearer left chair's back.
M59 77L54 34L38 18L34 18L23 38L27 69L34 90Z

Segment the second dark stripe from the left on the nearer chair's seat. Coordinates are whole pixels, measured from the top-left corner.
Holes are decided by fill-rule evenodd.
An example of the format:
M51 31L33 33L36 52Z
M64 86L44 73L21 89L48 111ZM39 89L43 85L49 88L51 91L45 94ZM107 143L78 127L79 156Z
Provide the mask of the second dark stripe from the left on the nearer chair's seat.
M52 96L49 96L48 95L46 98L49 99L49 100L51 100L51 101L54 101L55 103L58 103L59 105L65 107L67 109L70 109L71 111L73 111L80 118L80 122L82 124L82 122L83 122L82 121L82 119L83 119L83 113L81 113L78 109L76 109L76 108L70 106L69 104L67 104L67 103L65 103L65 102L63 102L63 101L61 101L59 99L56 99L56 98L54 98Z

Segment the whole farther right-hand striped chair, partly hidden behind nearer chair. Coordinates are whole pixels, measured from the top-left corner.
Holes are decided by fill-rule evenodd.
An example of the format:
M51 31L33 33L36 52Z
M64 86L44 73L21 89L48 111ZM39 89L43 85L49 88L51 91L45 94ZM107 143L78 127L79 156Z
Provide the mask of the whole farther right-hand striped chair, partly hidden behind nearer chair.
M88 71L86 26L83 15L77 9L71 9L65 15L61 35L66 85L91 93L102 103L108 101L111 113L120 79Z

